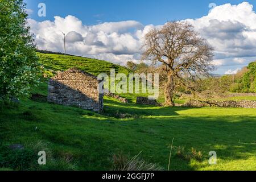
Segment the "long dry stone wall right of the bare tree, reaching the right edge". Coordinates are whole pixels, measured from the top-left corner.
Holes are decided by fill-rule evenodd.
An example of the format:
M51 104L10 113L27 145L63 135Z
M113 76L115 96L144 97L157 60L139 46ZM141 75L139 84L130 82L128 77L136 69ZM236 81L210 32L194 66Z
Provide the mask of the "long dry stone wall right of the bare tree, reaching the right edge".
M186 102L183 107L242 107L256 108L256 101L199 101L191 100Z

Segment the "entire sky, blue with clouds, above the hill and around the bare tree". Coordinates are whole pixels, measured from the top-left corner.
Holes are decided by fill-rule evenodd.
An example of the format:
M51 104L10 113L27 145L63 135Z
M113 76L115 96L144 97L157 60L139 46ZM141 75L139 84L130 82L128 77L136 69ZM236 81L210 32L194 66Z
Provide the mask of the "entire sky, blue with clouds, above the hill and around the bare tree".
M214 73L232 74L256 60L256 1L24 0L39 49L125 65L139 63L143 35L170 20L187 20L214 47ZM46 17L38 4L46 4ZM216 7L210 11L210 3ZM231 3L231 5L227 4ZM114 22L114 23L113 23Z

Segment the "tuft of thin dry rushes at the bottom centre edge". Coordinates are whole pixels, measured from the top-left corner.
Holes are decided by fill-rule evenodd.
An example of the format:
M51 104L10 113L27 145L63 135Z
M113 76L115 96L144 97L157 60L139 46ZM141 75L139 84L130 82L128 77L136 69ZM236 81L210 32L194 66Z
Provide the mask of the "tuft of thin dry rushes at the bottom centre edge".
M130 159L129 156L118 154L113 155L112 170L113 171L161 171L163 168L158 164L147 163L145 160L139 158L138 155Z

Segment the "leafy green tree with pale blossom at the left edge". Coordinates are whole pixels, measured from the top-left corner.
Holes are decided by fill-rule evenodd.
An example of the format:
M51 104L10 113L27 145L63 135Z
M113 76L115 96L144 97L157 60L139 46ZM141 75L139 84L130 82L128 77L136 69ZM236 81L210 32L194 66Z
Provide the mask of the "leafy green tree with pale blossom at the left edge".
M28 96L38 58L22 0L0 0L0 98Z

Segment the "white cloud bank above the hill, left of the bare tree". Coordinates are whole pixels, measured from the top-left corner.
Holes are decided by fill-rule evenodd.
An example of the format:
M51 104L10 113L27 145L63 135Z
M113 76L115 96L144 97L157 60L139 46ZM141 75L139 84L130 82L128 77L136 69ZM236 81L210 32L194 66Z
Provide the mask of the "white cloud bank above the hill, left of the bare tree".
M31 32L35 34L39 49L63 52L62 32L65 32L68 53L109 60L122 65L128 60L138 63L142 37L146 30L152 27L143 27L141 23L133 20L86 26L71 15L65 18L55 16L53 22L36 22L28 19L28 23Z

